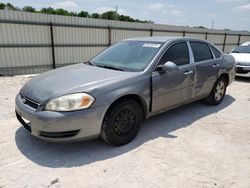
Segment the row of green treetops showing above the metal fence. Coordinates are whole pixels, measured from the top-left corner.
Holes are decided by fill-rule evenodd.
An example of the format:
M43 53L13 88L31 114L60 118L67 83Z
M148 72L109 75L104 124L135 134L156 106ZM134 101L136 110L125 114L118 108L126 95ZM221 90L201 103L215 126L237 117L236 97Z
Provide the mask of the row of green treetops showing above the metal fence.
M127 22L140 22L140 23L154 23L153 21L148 20L139 20L134 19L130 16L120 15L115 11L107 11L102 14L98 13L88 13L87 11L77 12L69 12L65 9L59 8L54 9L52 7L42 8L40 10L36 10L31 6L25 6L22 9L15 7L11 3L0 3L0 9L8 9L8 10L16 10L16 11L25 11L25 12L36 12L36 13L44 13L44 14L55 14L55 15L64 15L64 16L78 16L78 17L89 17L89 18L100 18L100 19L108 19L108 20L119 20L119 21L127 21Z

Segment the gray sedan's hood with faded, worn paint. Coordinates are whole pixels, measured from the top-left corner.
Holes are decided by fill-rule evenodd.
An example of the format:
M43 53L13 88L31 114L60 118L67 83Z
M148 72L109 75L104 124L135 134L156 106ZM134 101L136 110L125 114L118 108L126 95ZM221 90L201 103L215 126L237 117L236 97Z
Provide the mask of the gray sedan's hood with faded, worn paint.
M136 72L104 69L83 63L48 71L28 81L21 89L21 95L38 102L75 92L88 92L104 84L134 76Z

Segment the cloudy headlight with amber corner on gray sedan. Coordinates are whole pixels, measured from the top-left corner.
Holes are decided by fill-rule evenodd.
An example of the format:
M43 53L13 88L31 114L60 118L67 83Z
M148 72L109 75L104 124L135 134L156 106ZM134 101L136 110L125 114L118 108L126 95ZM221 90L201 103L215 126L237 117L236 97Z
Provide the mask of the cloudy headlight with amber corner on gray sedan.
M45 110L49 111L73 111L89 108L95 98L87 93L75 93L64 95L49 101Z

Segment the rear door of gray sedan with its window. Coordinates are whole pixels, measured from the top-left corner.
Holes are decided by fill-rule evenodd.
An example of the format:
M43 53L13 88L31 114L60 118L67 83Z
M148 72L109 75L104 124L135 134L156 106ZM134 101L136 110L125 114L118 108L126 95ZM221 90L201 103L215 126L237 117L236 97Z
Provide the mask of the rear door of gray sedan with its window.
M209 44L190 41L197 77L195 79L195 98L209 95L217 79L221 57L215 57ZM217 50L218 51L218 50ZM220 53L220 52L219 52Z

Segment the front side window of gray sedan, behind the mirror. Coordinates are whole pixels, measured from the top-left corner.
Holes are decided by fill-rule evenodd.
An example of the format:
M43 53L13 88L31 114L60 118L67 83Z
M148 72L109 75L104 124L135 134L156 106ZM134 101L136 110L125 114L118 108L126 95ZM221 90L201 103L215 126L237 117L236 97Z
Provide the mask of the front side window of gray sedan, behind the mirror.
M180 42L171 46L162 56L159 64L172 61L177 66L189 64L189 52L186 42Z

